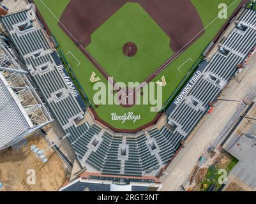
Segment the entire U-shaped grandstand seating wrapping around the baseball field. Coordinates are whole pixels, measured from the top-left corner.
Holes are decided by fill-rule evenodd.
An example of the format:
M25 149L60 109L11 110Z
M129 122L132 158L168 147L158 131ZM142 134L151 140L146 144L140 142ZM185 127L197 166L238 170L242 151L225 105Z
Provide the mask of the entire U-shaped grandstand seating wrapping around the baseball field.
M161 175L195 128L209 103L215 101L237 65L255 47L256 12L243 9L236 27L222 40L210 61L203 61L167 110L168 120L136 134L114 133L84 117L86 105L32 10L2 17L8 38L26 62L50 110L61 124L77 159L87 172L113 177L147 178ZM32 41L31 41L32 39ZM250 39L250 40L249 40ZM69 85L67 85L67 82ZM161 120L161 119L160 119Z

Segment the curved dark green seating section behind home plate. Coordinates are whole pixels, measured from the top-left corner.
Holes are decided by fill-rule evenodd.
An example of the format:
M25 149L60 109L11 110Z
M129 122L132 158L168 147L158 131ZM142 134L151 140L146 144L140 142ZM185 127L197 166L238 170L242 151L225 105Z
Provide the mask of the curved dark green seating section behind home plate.
M115 137L93 125L84 136L72 143L82 164L89 164L96 171L110 175L141 177L158 171L170 161L180 140L170 138L170 130L163 127L154 129L149 135L133 137ZM94 146L94 141L98 143ZM151 149L153 141L156 149ZM174 142L174 143L172 143ZM125 147L126 154L121 155Z

